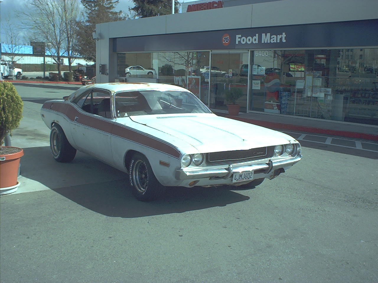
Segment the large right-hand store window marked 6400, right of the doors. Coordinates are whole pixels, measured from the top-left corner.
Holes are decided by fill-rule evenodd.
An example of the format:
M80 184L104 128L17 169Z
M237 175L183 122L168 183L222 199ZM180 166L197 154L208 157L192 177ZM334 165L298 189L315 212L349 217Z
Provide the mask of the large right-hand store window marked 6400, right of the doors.
M249 109L378 125L378 49L253 51Z

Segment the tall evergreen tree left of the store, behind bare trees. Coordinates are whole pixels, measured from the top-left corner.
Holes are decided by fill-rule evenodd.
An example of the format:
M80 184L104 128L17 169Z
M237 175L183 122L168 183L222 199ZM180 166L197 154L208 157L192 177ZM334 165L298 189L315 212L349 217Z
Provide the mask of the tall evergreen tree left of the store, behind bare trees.
M85 19L77 22L77 52L86 60L96 62L96 40L92 33L96 24L126 20L124 12L114 11L118 0L81 0L85 8Z

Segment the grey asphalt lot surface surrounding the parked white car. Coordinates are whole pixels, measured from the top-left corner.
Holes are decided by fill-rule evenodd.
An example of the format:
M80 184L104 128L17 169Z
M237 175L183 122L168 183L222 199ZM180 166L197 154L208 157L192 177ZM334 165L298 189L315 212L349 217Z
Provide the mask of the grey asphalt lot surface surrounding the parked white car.
M378 282L376 141L286 129L304 158L279 177L142 203L95 158L51 156L40 108L77 86L15 86L25 155L18 191L0 197L2 283Z

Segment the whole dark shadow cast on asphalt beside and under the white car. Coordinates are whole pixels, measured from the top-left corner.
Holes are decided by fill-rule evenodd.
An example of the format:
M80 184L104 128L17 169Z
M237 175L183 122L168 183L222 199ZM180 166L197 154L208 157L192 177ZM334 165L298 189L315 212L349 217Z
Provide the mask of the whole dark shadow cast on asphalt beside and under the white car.
M169 187L159 200L141 202L133 197L124 172L81 152L70 163L56 162L49 146L24 148L21 175L78 205L111 217L181 213L249 200L248 196L231 191L234 187L222 186Z

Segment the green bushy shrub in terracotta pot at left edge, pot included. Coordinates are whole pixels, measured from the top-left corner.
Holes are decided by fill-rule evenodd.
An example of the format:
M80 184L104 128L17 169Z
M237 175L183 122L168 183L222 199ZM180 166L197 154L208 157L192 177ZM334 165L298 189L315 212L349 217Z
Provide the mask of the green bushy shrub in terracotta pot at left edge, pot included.
M13 146L3 146L5 137L20 125L23 102L14 85L0 83L0 194L15 192L20 185L17 181L20 158L23 150Z

